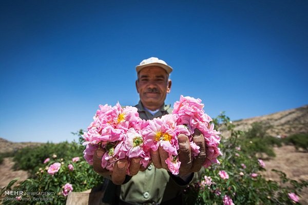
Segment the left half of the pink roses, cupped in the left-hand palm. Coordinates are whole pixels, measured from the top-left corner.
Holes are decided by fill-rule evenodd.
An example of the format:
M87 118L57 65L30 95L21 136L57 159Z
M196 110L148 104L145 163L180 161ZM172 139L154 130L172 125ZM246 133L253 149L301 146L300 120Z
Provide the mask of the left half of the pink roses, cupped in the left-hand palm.
M106 150L102 167L107 170L112 170L114 162L123 158L141 157L140 163L147 166L150 156L141 135L147 122L139 117L137 108L127 106L123 109L119 103L114 107L100 105L93 119L83 135L84 158L90 165L94 151L99 148Z

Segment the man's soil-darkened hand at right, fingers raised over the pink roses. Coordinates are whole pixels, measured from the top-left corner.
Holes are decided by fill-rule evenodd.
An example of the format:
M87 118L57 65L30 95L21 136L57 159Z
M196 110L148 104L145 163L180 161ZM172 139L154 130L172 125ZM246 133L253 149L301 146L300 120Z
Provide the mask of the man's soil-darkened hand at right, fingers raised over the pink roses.
M196 156L196 158L191 156L191 149L190 149L190 143L187 135L179 134L178 140L179 140L179 150L178 150L178 157L179 161L181 161L180 166L180 176L187 176L188 174L192 172L198 172L203 162L205 161L206 154L205 154L205 141L204 136L200 133L199 130L195 130L193 136L193 141L197 146L200 147L200 153ZM168 158L168 153L162 148L159 147L157 151L151 151L151 159L153 162L153 165L160 169L164 168L166 170L168 169L168 166L165 162L165 160Z

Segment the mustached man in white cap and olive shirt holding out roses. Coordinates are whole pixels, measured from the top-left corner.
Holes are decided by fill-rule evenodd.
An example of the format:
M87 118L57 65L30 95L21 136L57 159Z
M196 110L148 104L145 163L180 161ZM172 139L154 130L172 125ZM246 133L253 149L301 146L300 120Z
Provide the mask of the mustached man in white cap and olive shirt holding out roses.
M142 119L153 119L171 113L170 106L164 101L171 89L169 74L172 68L156 57L141 61L136 67L138 79L137 92L140 95L138 108ZM140 158L131 159L129 166L130 176L126 175L128 161L118 160L110 172L101 166L104 150L97 150L93 157L93 169L106 177L107 189L103 202L110 204L182 204L182 191L196 172L202 168L205 160L205 142L200 132L195 131L194 142L200 147L196 158L191 157L188 137L178 135L179 160L181 161L180 174L172 175L165 160L168 153L161 147L151 151L151 162L144 168L140 165Z

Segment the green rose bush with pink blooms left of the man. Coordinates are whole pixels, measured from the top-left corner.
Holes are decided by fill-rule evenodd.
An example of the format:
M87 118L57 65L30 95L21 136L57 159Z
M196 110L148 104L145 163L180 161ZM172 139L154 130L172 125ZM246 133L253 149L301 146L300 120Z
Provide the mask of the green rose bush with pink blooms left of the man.
M56 155L56 154L55 154ZM2 189L3 204L65 204L71 191L82 192L100 185L103 177L95 173L92 167L81 157L69 159L49 157L49 161L38 166L35 175L16 184L16 180L10 182ZM12 185L15 187L12 188ZM28 195L16 195L18 200L4 200L5 191L15 190L30 193ZM31 195L34 192L52 193L46 195ZM12 197L12 196L10 196ZM32 200L32 197L41 198ZM27 200L31 198L31 200ZM52 198L52 200L44 200Z

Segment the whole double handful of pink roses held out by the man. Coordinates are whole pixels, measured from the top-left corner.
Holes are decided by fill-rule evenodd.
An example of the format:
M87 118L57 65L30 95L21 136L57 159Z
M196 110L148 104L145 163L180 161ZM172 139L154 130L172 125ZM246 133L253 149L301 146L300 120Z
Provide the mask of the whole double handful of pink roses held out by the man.
M84 158L92 165L96 149L105 149L102 157L102 167L112 170L114 162L126 158L141 157L140 164L147 167L150 161L150 151L162 147L169 157L166 159L169 171L178 174L181 162L178 158L178 138L182 133L188 136L193 157L199 154L200 147L193 141L192 134L198 129L205 138L206 160L204 167L219 163L221 155L218 148L219 132L210 125L212 120L203 110L201 99L183 97L174 104L172 114L153 120L142 120L137 108L127 106L122 108L118 103L114 107L100 105L84 133ZM129 165L129 164L128 164ZM127 169L127 173L129 173Z

